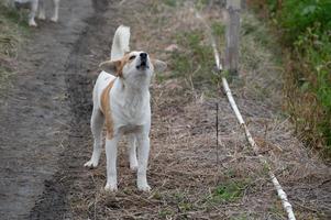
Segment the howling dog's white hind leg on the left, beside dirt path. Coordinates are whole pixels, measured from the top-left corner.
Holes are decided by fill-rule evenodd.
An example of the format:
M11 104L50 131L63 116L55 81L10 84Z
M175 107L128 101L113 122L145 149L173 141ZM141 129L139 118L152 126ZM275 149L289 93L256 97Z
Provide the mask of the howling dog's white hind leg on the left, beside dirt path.
M101 146L102 146L102 128L104 123L104 117L102 112L93 107L92 117L91 117L91 131L95 139L93 143L93 153L87 163L84 166L86 167L97 167L99 164L99 158L101 154Z

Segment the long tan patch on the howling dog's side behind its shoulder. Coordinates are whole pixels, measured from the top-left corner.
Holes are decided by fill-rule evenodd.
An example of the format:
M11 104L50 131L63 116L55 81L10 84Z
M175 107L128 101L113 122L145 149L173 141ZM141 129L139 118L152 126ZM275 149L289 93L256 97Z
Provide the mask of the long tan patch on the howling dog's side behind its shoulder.
M114 80L115 79L111 80L101 94L101 111L106 118L107 139L109 140L113 138L113 120L111 117L109 97L110 97L110 89L112 88Z

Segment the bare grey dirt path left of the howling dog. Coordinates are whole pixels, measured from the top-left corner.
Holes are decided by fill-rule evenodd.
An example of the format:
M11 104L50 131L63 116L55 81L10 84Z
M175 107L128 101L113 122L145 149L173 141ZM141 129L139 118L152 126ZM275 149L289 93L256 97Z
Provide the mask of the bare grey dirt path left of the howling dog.
M63 1L59 23L41 22L20 53L13 89L1 99L1 219L26 218L38 196L48 187L56 188L49 179L59 168L58 156L71 128L68 97L81 95L75 91L79 81L70 82L69 74L79 70L73 66L73 54L77 46L89 50L81 36L89 25L98 25L90 22L100 11L96 7L90 0ZM53 199L64 202L57 193Z

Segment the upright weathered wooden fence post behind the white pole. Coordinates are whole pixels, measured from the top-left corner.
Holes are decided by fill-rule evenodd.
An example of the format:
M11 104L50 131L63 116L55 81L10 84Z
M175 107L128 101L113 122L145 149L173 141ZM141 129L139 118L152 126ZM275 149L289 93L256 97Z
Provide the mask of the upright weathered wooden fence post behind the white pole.
M239 70L240 10L241 0L227 0L228 24L224 67L230 74L238 74Z

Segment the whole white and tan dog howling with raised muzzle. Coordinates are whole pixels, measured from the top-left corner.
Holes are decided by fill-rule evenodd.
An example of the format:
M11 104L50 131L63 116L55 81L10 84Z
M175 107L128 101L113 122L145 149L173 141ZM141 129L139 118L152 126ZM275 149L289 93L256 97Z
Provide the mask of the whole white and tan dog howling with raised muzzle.
M111 58L100 64L102 72L93 88L91 117L93 153L85 166L96 167L99 163L102 128L106 121L107 184L104 189L110 191L118 189L117 145L120 138L126 134L130 168L137 172L139 190L148 191L151 189L146 178L151 129L148 87L154 70L164 70L166 64L151 59L145 52L130 52L129 41L130 28L119 26L112 43Z

